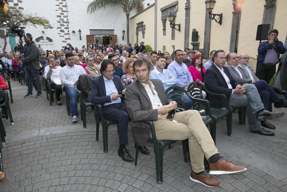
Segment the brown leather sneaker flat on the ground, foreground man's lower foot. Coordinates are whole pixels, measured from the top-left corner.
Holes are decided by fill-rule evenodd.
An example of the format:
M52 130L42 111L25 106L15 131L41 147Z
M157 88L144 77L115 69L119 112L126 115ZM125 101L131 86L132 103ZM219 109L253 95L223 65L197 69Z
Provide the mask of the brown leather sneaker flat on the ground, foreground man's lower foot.
M191 171L189 178L190 180L205 185L206 187L219 187L221 185L219 180L210 176L206 171L200 175L196 175Z

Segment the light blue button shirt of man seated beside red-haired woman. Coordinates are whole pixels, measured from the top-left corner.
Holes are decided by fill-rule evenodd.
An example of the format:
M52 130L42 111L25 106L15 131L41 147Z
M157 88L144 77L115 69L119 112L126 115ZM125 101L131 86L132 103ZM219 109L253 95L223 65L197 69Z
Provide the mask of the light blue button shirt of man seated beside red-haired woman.
M186 64L183 62L181 62L181 65L179 65L174 60L168 65L167 69L177 79L177 86L184 87L185 85L187 86L189 83L193 82L192 76L188 71Z

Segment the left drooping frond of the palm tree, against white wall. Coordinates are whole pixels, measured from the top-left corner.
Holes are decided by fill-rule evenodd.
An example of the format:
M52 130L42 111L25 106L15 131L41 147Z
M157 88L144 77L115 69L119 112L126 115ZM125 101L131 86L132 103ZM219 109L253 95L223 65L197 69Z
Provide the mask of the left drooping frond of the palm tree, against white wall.
M93 13L100 9L104 10L109 7L113 7L116 5L122 5L121 0L94 0L92 1L87 8L87 13Z

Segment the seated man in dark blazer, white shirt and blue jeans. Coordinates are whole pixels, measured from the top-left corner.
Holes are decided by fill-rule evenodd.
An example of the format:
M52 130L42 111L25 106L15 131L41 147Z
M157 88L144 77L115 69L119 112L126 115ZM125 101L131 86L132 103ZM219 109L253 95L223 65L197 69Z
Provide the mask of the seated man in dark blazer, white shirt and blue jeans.
M214 64L205 71L204 81L206 88L214 93L223 93L227 96L227 103L230 107L247 106L247 117L250 132L262 135L274 135L274 132L262 128L260 120L275 119L282 117L283 112L272 113L265 110L258 91L253 84L241 86L230 75L224 66L226 55L223 50L214 53ZM221 106L221 99L210 96L209 102L212 105Z

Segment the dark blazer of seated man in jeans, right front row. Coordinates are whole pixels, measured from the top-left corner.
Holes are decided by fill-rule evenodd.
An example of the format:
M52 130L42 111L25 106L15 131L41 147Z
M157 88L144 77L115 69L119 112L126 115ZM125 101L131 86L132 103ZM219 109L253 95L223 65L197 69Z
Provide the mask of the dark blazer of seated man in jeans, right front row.
M230 84L232 85L232 88L235 89L237 85L240 85L237 81L235 81L232 76L230 75L228 69L223 66L222 67L225 74L230 80ZM221 72L217 69L215 64L212 64L204 74L204 83L205 87L208 88L211 92L214 93L223 93L227 96L227 104L229 103L229 97L232 94L232 89L228 88L228 85L221 74ZM222 101L219 97L209 96L209 102L212 105L221 106Z

